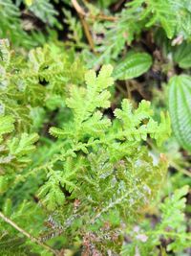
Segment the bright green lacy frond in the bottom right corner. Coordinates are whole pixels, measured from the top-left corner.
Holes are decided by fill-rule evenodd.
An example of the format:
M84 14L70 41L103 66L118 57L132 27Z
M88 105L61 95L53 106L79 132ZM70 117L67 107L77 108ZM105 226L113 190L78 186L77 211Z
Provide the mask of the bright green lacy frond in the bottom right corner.
M169 241L167 251L174 251L178 253L177 255L180 255L182 249L188 248L191 233L186 233L184 215L187 193L188 186L184 186L159 204L161 220L155 227L152 227L148 221L144 221L133 230L128 229L128 234L135 242L124 245L122 255L133 256L136 252L142 256L158 255L159 249L156 245L160 244L161 239Z

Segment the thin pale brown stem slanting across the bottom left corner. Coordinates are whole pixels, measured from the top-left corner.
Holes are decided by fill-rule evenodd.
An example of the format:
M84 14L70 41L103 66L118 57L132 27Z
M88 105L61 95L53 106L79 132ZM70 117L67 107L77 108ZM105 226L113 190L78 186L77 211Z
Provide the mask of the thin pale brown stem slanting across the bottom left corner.
M58 255L58 253L53 250L52 247L50 247L47 244L43 244L42 242L40 242L37 238L32 237L31 234L29 234L27 231L25 231L24 229L22 229L21 227L19 227L16 223L14 223L13 221L11 221L11 219L9 219L8 217L6 217L2 212L0 212L0 218L3 221L6 221L7 223L9 223L14 229L16 229L17 231L19 231L20 233L22 233L24 236L26 236L27 238L29 238L33 243L38 244L42 247L44 247L46 250L51 251L53 253L53 255Z

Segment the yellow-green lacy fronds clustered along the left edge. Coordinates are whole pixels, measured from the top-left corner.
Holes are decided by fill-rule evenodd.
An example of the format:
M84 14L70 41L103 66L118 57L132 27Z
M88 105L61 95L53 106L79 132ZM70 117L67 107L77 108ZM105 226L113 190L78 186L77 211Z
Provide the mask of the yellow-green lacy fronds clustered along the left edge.
M9 41L0 40L1 192L10 188L16 171L22 172L32 162L39 137L33 131L42 127L51 110L64 107L66 82L84 80L80 60L63 50L46 45L32 50L28 59L18 58L11 54Z

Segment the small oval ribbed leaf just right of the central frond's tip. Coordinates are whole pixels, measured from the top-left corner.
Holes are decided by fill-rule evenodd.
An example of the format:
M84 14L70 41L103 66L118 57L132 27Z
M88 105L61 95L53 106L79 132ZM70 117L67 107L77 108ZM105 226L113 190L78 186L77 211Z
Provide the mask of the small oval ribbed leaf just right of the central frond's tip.
M144 74L151 66L152 59L148 54L133 53L117 64L114 77L118 80L130 80Z

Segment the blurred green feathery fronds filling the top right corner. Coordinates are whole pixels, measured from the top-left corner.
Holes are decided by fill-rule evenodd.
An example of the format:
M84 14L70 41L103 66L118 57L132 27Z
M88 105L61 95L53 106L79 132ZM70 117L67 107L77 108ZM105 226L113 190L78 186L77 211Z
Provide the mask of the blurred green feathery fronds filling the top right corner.
M94 13L94 10L89 8L90 13ZM109 14L113 15L112 12ZM148 39L142 39L142 33L148 33L151 37L151 42L146 42L147 45L153 43L153 35L158 35L160 31L165 33L165 39L172 39L172 45L189 41L191 35L191 9L187 0L132 0L111 19L89 22L93 26L95 50L99 54L93 58L93 66L125 56L127 46L135 50L135 41ZM100 34L104 36L99 36Z

